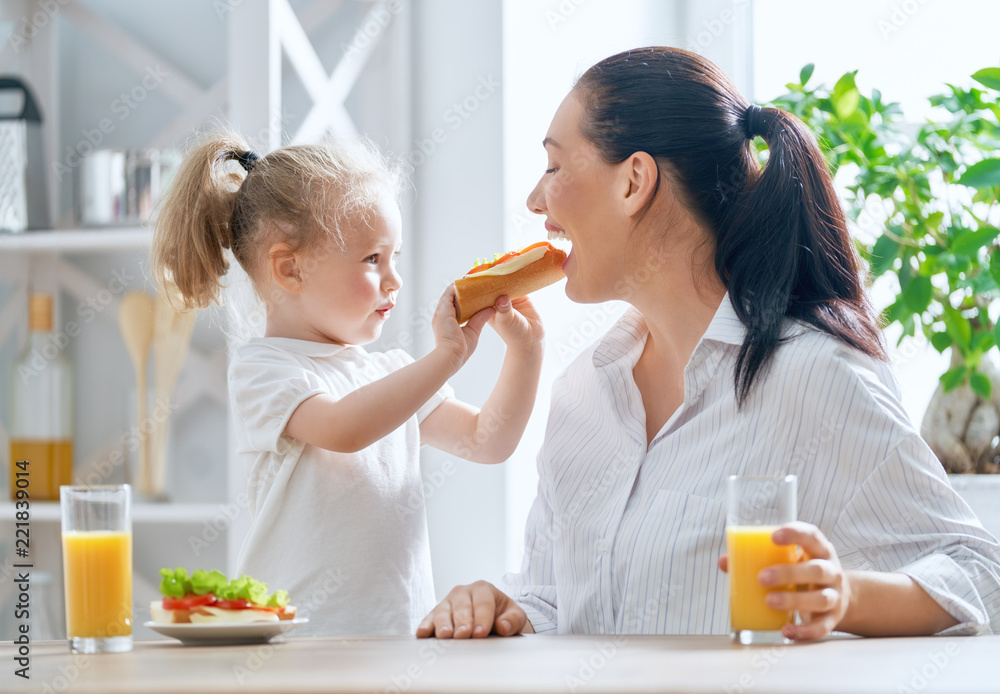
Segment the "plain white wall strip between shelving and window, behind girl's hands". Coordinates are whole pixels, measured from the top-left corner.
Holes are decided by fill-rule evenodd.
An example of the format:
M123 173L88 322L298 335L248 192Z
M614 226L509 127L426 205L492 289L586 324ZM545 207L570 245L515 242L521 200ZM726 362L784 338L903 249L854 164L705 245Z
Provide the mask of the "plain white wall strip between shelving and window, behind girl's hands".
M414 356L433 347L420 329L441 292L477 256L504 248L499 2L420 0L413 7L412 227L403 253L416 269L403 292L414 294ZM451 383L474 405L485 401L502 360L502 343L485 331L480 347ZM435 586L504 569L504 468L476 465L425 447L422 466Z

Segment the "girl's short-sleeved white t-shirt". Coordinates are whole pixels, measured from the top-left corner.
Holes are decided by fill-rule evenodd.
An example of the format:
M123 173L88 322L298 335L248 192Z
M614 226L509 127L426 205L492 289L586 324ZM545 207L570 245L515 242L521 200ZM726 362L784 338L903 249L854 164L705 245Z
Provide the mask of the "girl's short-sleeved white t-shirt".
M419 424L445 384L401 427L357 453L284 435L295 408L343 397L413 362L402 350L258 338L229 367L236 453L249 475L250 531L237 571L287 590L297 633L412 634L434 607Z

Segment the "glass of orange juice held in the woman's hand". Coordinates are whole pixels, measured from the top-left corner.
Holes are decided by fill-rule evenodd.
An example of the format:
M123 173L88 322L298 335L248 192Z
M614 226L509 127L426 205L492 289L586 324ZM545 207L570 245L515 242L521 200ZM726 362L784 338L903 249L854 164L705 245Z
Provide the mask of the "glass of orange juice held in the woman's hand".
M795 613L775 610L765 599L772 590L757 575L774 564L794 564L796 545L776 545L771 534L779 526L795 520L796 478L729 478L727 488L726 545L729 561L729 623L733 640L743 644L783 643L781 628L790 624Z

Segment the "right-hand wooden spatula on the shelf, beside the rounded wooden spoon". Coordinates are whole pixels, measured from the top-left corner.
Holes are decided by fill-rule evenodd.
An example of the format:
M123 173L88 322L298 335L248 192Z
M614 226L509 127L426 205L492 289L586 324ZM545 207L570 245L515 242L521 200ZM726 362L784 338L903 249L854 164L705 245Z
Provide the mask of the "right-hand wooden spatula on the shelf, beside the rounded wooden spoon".
M167 434L170 431L168 407L181 367L187 359L194 330L195 312L179 313L162 295L156 297L156 320L153 326L153 394L157 407L166 409L163 421L157 421L150 449L150 487L148 494L162 498L167 480Z

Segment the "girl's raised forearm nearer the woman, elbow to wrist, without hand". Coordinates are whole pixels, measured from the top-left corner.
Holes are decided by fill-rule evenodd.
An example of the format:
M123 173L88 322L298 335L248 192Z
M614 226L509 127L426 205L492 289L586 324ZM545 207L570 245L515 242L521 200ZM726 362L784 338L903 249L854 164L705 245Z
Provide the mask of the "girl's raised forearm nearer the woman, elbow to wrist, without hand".
M507 350L497 384L475 418L470 460L503 462L517 448L538 393L542 354L541 345L527 352Z

